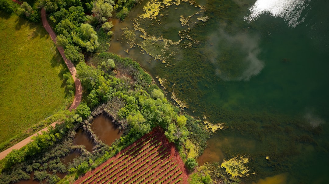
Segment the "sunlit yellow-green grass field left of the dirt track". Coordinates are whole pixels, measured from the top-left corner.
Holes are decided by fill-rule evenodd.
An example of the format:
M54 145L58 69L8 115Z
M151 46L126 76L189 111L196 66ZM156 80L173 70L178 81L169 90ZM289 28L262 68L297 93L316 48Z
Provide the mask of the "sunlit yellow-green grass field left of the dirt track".
M68 105L64 72L41 23L0 11L0 149Z

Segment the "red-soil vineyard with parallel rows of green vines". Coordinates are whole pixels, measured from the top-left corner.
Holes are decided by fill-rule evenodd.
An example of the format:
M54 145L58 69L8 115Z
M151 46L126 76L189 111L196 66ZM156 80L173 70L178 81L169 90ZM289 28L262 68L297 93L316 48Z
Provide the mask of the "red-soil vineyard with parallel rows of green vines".
M160 129L128 146L75 184L187 184L187 170Z

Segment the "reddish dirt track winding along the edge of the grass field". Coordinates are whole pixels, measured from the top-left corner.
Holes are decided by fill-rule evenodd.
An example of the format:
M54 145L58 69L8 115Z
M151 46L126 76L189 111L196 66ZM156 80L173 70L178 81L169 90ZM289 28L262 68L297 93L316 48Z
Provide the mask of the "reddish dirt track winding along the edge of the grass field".
M16 1L14 1L14 2L16 2ZM50 38L53 40L53 42L56 44L56 34L53 31L53 29L49 26L48 21L47 21L47 17L46 17L46 11L43 8L41 9L41 20L42 20L43 27L49 33ZM61 53L65 64L67 65L68 69L70 70L70 73L73 77L74 84L75 84L75 96L74 96L73 103L69 108L69 111L72 111L72 109L76 109L78 107L78 105L80 104L80 102L81 102L81 99L82 99L82 85L81 85L80 80L76 78L77 70L75 69L74 64L65 57L63 47L57 46L57 49ZM44 129L40 130L38 133L33 134L32 136L29 136L28 138L23 139L22 141L18 142L17 144L13 145L12 147L10 147L10 148L6 149L5 151L1 152L0 153L0 160L5 158L13 149L20 149L23 146L25 146L26 144L28 144L31 141L31 138L33 136L36 136L37 134L41 134L41 131L46 131L48 129L48 127L50 127L50 126L55 127L56 123L58 123L58 122L53 122L49 126L47 126Z

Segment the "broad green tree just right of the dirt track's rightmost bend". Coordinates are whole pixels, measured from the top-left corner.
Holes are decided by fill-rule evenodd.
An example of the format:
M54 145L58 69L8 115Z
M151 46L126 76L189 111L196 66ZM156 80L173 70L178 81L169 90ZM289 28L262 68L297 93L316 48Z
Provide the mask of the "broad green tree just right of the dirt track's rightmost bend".
M103 71L81 62L77 64L77 75L85 89L91 91L100 86L104 81Z

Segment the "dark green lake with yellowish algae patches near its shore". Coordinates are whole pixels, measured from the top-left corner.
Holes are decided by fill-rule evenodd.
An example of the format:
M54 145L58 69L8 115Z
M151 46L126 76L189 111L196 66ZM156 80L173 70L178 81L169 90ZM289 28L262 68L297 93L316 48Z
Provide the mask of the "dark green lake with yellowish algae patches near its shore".
M190 115L225 123L199 164L245 155L245 183L328 183L329 1L193 2L158 1L155 19L139 2L110 51L165 79Z

